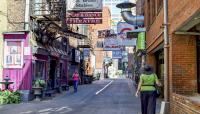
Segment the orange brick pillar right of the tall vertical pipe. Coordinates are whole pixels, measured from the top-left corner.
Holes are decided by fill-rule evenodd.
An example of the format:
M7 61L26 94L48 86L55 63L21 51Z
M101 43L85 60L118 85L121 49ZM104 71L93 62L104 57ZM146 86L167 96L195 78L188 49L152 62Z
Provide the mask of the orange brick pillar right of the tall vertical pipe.
M193 94L197 92L196 39L187 35L172 35L170 42L172 65L170 82L173 92Z

